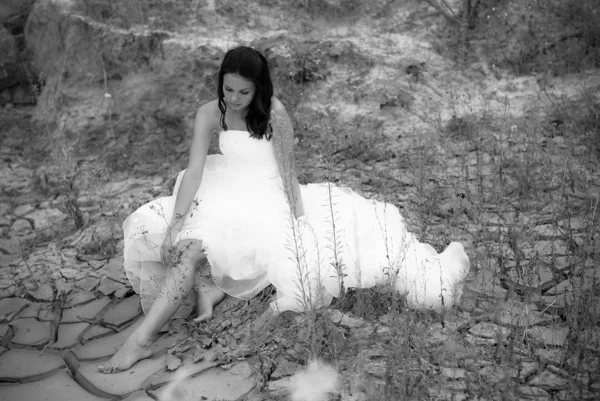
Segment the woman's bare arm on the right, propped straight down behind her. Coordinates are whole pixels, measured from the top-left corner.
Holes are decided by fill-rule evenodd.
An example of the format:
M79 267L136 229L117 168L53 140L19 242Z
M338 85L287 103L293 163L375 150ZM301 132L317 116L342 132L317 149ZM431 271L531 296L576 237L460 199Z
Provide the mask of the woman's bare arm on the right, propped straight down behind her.
M273 99L271 106L271 125L273 127L273 150L279 174L283 180L285 194L294 217L304 215L304 203L300 192L300 184L296 174L296 159L294 157L294 128L283 104Z

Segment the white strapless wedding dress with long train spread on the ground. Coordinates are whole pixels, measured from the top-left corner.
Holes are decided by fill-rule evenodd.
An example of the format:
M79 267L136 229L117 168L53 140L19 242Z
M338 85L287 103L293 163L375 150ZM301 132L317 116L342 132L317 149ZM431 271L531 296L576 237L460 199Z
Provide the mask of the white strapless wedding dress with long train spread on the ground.
M219 134L219 148L222 155L206 160L197 202L174 243L201 239L212 278L227 294L249 299L273 284L275 312L301 311L328 305L343 279L343 288L396 290L417 308L439 310L457 300L469 269L461 244L438 254L407 231L395 206L328 183L300 186L305 215L296 220L271 141L228 130ZM166 274L156 262L182 174L172 196L141 206L123 223L125 271L146 312ZM190 297L180 311L191 308Z

